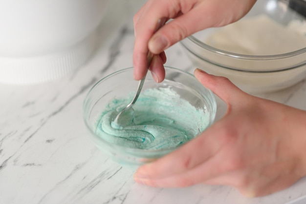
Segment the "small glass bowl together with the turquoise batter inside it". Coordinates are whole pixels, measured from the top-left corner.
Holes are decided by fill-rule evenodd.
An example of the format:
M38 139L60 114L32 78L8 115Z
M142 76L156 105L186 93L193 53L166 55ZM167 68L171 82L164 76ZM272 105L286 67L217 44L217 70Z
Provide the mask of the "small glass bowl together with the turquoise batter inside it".
M97 82L83 102L83 118L94 144L113 161L139 166L174 151L213 124L214 94L190 73L165 66L165 80L148 74L133 111L112 122L135 94L133 67ZM123 117L122 117L123 116Z

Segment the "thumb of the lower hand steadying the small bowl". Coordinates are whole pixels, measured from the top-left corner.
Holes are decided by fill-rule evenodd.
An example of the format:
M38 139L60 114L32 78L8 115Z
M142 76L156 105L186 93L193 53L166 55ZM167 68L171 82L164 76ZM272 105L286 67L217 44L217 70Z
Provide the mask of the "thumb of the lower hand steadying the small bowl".
M198 68L195 70L195 77L203 86L212 90L227 105L241 102L241 97L246 95L246 93L225 77L210 75Z

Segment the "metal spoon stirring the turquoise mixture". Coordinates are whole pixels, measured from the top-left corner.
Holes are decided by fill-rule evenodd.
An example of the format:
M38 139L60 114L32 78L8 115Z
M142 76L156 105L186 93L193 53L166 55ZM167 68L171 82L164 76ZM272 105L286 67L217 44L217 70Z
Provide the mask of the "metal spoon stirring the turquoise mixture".
M159 28L161 28L161 27L166 23L166 21L167 21L167 19L160 19L160 20L158 20L157 26L156 26L156 29L155 29L154 32L156 32ZM153 53L149 51L149 52L148 52L148 55L147 55L147 61L148 61L148 63L147 63L147 68L148 68L148 69L149 69L149 67L150 67L152 58L153 58ZM137 101L138 96L139 96L139 94L140 94L140 91L141 91L141 89L142 89L143 83L145 82L145 79L146 79L146 75L139 81L138 87L137 87L137 91L136 91L136 94L135 94L133 100L132 100L125 108L123 108L123 109L119 112L119 114L116 116L116 118L115 118L115 120L114 120L113 122L115 122L116 124L118 124L118 119L120 118L120 116L121 116L124 112L128 111L129 109L131 109L131 107L132 107L132 106L134 105L134 103Z

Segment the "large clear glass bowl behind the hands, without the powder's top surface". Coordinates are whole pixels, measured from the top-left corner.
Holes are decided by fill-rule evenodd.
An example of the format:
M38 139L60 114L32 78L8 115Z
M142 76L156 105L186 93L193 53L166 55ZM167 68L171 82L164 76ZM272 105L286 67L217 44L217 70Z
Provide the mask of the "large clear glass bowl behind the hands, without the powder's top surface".
M241 20L262 14L284 26L294 21L294 28L304 29L306 34L305 0L258 0ZM181 41L197 67L214 75L225 76L251 93L284 89L305 79L306 46L276 55L229 52L204 43L209 35L219 29L222 27L208 28ZM262 28L258 26L258 29Z

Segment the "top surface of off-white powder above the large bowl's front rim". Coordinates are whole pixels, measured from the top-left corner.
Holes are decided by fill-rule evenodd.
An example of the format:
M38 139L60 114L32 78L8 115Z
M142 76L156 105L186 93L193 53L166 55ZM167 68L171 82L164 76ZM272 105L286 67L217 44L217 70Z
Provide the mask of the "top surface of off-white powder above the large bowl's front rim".
M224 26L206 40L210 46L246 55L277 55L306 47L306 23L295 20L284 26L266 15Z

